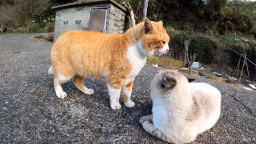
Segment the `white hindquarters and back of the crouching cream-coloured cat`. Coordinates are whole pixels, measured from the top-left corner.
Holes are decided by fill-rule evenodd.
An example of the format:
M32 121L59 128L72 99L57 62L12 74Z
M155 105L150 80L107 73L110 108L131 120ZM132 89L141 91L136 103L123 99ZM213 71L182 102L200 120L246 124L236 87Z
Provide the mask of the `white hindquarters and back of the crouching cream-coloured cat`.
M196 107L198 133L210 129L219 119L221 107L220 91L206 83L189 83Z

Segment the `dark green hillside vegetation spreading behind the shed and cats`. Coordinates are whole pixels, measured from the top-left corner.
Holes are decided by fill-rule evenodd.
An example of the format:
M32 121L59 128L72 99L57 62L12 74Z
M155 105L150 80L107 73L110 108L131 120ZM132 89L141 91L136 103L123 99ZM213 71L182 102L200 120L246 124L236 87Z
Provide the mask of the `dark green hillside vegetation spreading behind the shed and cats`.
M0 31L52 32L55 12L51 6L76 1L83 0L0 0ZM137 23L142 21L142 0L116 1L130 3ZM191 39L189 53L199 54L196 61L224 70L236 67L239 55L229 49L243 53L242 43L247 58L256 63L255 11L254 3L243 0L150 0L147 17L164 22L173 49L167 57L182 60L184 41ZM251 79L255 79L255 66L248 64Z

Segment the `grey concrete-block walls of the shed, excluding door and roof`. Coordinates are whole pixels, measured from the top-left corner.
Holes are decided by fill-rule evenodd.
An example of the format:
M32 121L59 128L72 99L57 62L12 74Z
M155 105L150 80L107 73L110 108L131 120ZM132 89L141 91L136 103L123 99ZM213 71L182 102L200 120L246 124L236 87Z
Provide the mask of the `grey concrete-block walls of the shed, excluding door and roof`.
M54 41L69 30L85 30L89 22L90 7L108 7L106 33L123 33L126 13L113 4L94 4L58 9L55 16ZM81 20L81 25L76 21ZM63 22L68 22L64 25Z

